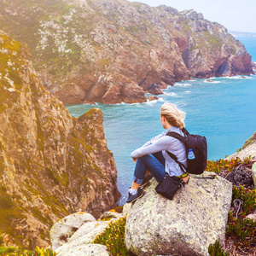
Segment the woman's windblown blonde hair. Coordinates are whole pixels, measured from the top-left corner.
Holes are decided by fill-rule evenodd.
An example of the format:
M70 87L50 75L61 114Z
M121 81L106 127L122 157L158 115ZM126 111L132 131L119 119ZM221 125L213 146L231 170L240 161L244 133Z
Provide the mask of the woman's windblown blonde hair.
M186 118L186 113L177 109L177 107L172 103L164 103L160 108L160 115L163 115L167 122L172 126L180 129L185 127L184 119Z

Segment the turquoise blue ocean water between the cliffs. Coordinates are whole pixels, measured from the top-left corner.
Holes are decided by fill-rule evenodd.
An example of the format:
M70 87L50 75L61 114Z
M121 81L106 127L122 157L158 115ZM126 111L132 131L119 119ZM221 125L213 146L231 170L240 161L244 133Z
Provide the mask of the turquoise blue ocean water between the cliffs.
M256 61L256 37L236 37L245 44ZM233 154L256 131L256 75L231 78L191 79L164 90L159 100L142 104L72 105L68 111L79 117L90 108L100 108L108 148L118 170L119 205L127 198L134 162L131 152L151 137L164 131L160 106L177 104L187 113L185 124L190 133L207 137L208 159L218 160Z

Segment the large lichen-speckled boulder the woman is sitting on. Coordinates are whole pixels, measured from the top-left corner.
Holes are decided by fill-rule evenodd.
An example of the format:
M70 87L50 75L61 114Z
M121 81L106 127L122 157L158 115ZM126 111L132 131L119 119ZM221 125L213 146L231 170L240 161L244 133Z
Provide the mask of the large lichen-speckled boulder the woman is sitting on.
M208 176L212 172L204 172ZM232 198L232 184L222 177L198 179L178 190L173 201L154 187L131 205L125 227L125 245L137 255L208 255L208 246L224 244Z

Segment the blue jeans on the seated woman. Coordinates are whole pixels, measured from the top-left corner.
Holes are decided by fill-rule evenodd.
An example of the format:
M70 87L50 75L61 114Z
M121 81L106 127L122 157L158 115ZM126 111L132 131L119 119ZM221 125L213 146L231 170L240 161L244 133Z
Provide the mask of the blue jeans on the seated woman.
M134 170L133 182L138 184L143 183L143 179L148 170L160 183L166 175L165 163L166 160L161 152L139 157Z

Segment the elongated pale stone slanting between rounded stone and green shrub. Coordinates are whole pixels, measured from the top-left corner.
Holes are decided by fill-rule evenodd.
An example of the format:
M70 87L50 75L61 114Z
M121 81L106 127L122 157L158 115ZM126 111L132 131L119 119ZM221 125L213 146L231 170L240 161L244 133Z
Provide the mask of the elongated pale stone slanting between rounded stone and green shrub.
M109 221L96 221L84 224L73 234L67 243L58 247L55 252L58 253L58 256L68 255L69 251L73 250L73 247L89 244L106 229L108 223Z

